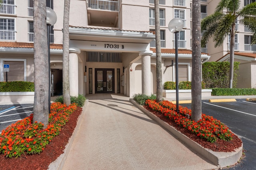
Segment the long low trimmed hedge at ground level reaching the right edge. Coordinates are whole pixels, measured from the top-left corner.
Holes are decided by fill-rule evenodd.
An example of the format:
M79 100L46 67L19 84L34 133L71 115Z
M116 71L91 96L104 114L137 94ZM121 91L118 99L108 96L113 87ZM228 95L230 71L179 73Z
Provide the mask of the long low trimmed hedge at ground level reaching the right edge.
M256 95L255 88L212 88L212 96Z

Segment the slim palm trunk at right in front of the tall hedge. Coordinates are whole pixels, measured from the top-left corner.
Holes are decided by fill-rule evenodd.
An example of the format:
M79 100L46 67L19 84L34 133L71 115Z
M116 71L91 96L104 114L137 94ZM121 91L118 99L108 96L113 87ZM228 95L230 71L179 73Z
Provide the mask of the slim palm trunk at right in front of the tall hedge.
M232 25L230 34L230 66L229 66L229 88L233 86L233 76L234 76L234 51L235 51L235 28L236 25Z

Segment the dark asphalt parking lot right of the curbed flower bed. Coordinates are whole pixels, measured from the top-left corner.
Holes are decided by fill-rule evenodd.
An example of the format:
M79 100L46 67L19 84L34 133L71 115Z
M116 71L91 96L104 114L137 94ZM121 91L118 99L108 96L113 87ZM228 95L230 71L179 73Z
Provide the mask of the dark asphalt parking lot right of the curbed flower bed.
M191 108L191 104L180 104ZM256 169L256 102L236 99L236 102L202 101L202 113L225 123L243 142L245 158L230 170Z

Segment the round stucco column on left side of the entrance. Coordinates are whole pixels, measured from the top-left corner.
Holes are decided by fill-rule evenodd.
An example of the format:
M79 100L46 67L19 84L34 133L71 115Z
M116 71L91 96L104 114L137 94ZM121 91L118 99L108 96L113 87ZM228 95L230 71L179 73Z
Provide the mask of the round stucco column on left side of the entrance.
M70 96L78 96L78 54L80 49L69 49L69 84L70 84Z

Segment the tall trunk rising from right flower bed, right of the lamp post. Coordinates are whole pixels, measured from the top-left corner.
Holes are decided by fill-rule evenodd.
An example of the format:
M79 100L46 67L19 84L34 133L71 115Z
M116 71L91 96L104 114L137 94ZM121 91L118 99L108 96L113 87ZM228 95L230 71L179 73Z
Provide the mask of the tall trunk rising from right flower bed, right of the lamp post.
M192 0L192 119L202 119L202 66L200 0Z

